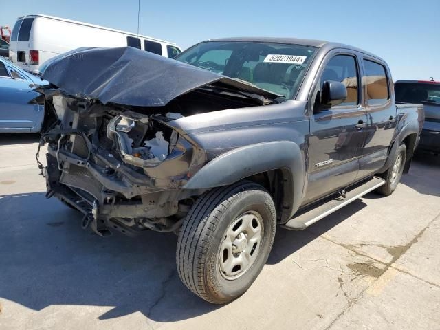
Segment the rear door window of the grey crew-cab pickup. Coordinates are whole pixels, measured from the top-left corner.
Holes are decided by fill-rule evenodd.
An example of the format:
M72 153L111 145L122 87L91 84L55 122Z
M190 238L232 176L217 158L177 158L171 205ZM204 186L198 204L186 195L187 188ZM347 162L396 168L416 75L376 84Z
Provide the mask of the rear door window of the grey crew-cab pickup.
M364 60L366 102L369 105L385 104L389 98L388 78L383 65Z

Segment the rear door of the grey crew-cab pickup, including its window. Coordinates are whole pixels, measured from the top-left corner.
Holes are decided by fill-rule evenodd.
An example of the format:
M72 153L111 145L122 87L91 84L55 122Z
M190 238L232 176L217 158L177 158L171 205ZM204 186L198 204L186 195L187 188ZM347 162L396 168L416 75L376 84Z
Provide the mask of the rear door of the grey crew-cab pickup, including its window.
M365 145L358 179L380 170L393 140L397 110L391 95L393 83L388 69L375 58L362 58L366 107Z

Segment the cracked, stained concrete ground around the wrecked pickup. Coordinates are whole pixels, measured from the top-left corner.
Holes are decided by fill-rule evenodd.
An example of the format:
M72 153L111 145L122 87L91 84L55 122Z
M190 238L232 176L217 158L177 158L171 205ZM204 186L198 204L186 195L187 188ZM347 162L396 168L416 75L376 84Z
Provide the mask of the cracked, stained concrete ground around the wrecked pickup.
M225 306L189 292L174 234L102 239L56 199L36 135L0 135L0 329L440 329L440 157L303 232Z

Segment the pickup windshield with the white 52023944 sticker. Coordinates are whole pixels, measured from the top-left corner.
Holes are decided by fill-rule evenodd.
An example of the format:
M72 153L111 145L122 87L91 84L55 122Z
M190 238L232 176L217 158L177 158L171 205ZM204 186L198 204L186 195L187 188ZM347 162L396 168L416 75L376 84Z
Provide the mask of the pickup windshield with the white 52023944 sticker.
M315 47L282 43L206 41L175 59L294 98Z

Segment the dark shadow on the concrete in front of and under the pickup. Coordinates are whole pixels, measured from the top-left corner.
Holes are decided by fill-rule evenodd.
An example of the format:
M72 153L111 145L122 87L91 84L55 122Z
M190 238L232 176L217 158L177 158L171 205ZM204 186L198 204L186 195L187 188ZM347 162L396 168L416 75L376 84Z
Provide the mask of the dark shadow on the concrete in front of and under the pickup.
M365 206L356 201L313 232L278 228L268 263L278 263ZM109 319L140 311L157 322L221 308L181 283L177 237L146 232L102 239L80 228L80 214L43 192L0 196L0 296L39 311L50 305L114 306Z

